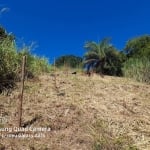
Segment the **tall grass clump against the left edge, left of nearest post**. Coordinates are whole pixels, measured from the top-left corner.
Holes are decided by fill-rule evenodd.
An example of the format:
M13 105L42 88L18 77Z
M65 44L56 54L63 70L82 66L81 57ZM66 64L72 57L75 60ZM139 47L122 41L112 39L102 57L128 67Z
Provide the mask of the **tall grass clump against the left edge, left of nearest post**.
M0 93L3 89L12 88L17 72L17 52L12 39L0 40Z

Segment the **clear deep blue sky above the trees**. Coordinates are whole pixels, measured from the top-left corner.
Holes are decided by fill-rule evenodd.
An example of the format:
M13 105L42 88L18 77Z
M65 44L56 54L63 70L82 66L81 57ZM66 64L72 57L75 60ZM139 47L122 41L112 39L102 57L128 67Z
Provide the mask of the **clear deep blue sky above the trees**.
M130 38L150 33L149 0L0 0L0 24L33 51L54 57L82 56L86 41L112 38L122 49Z

